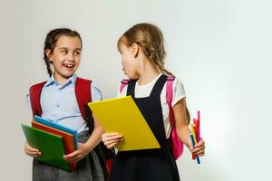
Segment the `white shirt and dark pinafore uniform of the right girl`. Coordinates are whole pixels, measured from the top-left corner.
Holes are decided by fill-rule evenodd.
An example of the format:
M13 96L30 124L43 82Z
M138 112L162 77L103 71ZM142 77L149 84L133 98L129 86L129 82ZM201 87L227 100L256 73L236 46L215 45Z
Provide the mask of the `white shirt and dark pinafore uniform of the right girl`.
M143 86L139 86L138 81L131 80L121 92L120 96L131 95L160 143L160 148L119 151L113 162L110 181L180 180L178 167L170 152L170 123L167 123L169 114L165 115L169 111L166 102L166 81L167 76L163 74ZM172 105L185 97L180 81L173 82L173 90Z

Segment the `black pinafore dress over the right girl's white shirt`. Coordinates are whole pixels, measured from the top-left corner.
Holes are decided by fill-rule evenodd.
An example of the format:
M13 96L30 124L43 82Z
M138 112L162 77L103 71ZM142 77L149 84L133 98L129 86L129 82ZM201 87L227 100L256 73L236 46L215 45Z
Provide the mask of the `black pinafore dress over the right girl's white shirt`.
M167 76L161 75L151 90L150 97L146 98L134 98L136 81L129 82L127 95L131 95L141 110L141 114L160 143L160 148L119 151L113 162L110 181L180 180L178 168L171 156L169 141L166 139L163 126L160 92L166 81Z

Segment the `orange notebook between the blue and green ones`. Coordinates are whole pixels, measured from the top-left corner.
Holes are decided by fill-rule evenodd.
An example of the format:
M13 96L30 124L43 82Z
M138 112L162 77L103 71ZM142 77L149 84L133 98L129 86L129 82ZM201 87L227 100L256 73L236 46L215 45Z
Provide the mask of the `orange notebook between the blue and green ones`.
M72 134L66 133L66 132L59 130L59 129L53 129L51 127L48 127L48 126L38 123L36 121L31 121L31 125L35 129L41 129L41 130L44 130L46 132L52 133L57 136L63 136L63 144L64 144L64 149L65 149L66 155L75 151ZM72 171L75 170L76 163L69 163L69 165L70 165L70 168Z

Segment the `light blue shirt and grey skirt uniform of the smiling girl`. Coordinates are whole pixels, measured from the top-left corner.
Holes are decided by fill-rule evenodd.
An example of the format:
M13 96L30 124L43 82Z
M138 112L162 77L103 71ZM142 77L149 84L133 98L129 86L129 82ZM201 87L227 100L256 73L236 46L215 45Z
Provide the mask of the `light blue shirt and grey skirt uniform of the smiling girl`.
M79 109L74 86L77 75L73 74L63 85L53 79L53 76L44 84L41 92L42 117L51 119L70 129L77 130L78 140L84 143L90 138L86 121L83 119ZM92 83L92 101L102 100L100 90ZM90 100L91 101L91 100ZM26 102L30 108L29 95ZM34 181L103 181L102 167L94 151L77 163L77 168L73 172L53 167L44 162L33 160L33 180Z

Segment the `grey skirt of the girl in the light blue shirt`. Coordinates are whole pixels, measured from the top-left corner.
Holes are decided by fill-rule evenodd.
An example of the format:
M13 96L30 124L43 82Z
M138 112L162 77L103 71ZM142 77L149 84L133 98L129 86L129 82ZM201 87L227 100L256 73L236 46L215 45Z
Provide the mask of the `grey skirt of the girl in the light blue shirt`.
M88 132L79 134L79 142L84 143L90 135ZM73 172L53 167L44 162L33 160L33 181L104 181L102 167L96 153L92 151L77 163Z

